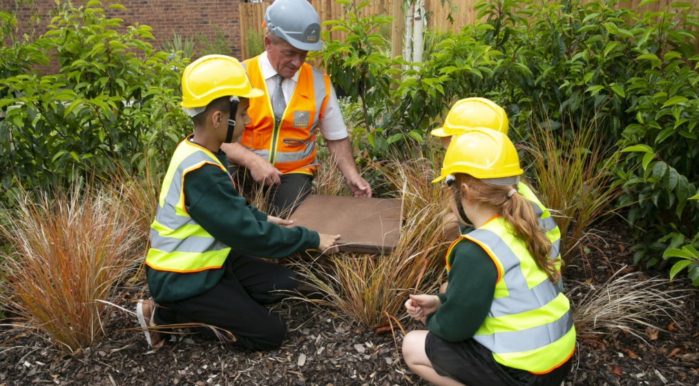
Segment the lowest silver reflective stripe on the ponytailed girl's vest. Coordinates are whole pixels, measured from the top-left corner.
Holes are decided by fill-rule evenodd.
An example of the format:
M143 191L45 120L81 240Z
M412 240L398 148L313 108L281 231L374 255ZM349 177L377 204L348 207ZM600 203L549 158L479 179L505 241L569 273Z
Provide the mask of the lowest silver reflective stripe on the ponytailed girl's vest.
M570 310L559 320L520 331L496 332L490 335L475 335L473 339L494 354L524 352L548 346L568 334L572 327Z

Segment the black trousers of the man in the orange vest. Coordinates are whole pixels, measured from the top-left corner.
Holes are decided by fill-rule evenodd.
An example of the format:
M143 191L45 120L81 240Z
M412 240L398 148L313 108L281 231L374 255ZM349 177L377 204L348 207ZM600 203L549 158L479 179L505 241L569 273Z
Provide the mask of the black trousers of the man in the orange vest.
M245 195L259 188L259 184L252 179L250 171L238 166L231 166L231 175L236 179L236 185L243 189ZM265 186L264 192L268 193L267 204L271 208L272 216L287 216L294 213L298 205L305 200L311 191L312 175L304 173L290 173L279 177L281 184Z

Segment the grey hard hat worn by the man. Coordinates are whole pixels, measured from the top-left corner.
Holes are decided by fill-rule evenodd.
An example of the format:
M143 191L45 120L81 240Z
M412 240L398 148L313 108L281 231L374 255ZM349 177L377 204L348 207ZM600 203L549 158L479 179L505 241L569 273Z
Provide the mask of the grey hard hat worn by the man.
M275 0L264 14L267 28L276 36L304 51L323 49L320 17L306 0Z

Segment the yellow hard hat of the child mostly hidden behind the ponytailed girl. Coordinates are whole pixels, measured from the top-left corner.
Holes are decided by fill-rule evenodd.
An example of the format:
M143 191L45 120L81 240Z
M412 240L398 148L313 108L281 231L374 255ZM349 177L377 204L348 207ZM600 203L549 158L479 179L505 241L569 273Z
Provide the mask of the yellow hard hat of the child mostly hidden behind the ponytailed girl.
M435 128L432 135L449 137L468 129L485 127L507 135L509 124L503 107L486 98L466 98L454 103L444 126Z

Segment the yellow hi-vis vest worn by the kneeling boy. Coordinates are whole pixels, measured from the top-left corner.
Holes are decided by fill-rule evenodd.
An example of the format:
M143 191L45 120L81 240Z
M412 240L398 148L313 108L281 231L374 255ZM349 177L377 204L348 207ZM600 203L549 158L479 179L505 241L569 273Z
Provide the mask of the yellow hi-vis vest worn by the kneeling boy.
M217 242L185 209L185 175L207 163L226 170L207 149L180 142L165 175L155 219L150 225L150 249L145 264L158 271L200 272L220 268L231 248Z

